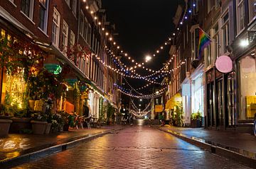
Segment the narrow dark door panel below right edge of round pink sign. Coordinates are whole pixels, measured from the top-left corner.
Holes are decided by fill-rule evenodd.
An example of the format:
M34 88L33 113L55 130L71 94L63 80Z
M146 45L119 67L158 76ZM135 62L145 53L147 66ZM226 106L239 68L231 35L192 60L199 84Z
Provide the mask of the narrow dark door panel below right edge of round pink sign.
M234 91L234 74L228 75L227 78L227 101L228 101L228 126L235 125L235 91Z

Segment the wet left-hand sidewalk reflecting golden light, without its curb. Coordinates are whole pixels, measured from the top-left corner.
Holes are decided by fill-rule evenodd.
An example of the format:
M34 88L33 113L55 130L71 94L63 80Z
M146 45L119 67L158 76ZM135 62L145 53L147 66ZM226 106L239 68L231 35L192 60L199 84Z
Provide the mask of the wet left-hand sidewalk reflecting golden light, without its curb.
M69 132L58 134L35 135L35 134L9 134L0 137L0 163L10 161L13 158L28 153L41 151L45 148L65 144L70 141L82 139L86 136L104 133L119 126L106 126L92 129L70 129Z

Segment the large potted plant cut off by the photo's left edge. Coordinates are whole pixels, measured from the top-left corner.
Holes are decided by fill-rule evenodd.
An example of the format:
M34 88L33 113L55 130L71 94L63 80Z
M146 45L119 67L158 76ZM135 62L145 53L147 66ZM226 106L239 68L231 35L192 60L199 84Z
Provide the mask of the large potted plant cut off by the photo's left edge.
M4 136L9 134L10 125L12 122L10 118L13 116L13 112L9 105L1 105L0 110L0 136Z

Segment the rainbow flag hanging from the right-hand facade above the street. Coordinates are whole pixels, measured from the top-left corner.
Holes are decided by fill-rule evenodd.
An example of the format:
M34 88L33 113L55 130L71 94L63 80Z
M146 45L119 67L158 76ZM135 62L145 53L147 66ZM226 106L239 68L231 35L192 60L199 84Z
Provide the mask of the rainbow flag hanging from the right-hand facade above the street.
M207 35L201 28L199 28L198 59L201 59L203 49L207 47L210 42L210 36Z

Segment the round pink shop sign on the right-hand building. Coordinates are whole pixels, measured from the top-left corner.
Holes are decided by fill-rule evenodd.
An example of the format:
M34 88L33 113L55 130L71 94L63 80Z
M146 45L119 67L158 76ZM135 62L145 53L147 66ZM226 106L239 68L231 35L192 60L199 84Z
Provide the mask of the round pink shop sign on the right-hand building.
M233 63L230 57L220 56L215 61L215 66L220 73L227 74L233 70Z

